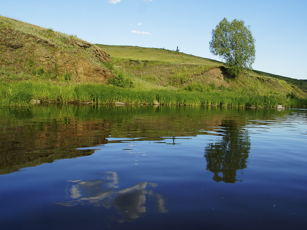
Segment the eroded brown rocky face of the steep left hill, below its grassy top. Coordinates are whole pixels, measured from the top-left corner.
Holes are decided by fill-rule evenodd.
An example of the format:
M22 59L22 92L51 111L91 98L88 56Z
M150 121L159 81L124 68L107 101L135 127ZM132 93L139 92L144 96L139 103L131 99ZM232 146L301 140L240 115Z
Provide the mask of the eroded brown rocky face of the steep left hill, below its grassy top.
M0 33L0 66L23 73L29 64L43 67L45 72L55 71L57 66L60 74L71 73L72 82L105 83L111 77L111 72L99 64L111 61L106 52L76 37L69 42L71 51L64 51L52 40L4 28Z

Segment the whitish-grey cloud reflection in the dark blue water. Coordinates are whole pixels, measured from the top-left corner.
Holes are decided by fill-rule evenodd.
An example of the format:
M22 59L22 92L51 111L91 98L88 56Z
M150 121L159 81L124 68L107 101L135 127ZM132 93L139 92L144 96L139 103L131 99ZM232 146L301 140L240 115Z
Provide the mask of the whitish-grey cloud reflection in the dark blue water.
M155 211L167 212L165 199L160 194L155 194L152 188L156 183L139 182L136 185L118 190L118 175L116 172L106 172L103 180L75 180L68 181L65 189L68 202L56 203L64 206L94 205L107 209L115 208L120 211L118 222L133 221L146 212L146 201L155 202Z

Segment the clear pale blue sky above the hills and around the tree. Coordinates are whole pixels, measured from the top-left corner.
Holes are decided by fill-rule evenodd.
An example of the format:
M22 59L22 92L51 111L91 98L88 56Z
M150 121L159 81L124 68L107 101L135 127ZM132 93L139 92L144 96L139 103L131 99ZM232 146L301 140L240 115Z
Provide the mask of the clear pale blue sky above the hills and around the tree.
M307 1L0 0L0 15L91 43L165 48L220 60L211 31L242 19L256 40L255 70L307 79Z

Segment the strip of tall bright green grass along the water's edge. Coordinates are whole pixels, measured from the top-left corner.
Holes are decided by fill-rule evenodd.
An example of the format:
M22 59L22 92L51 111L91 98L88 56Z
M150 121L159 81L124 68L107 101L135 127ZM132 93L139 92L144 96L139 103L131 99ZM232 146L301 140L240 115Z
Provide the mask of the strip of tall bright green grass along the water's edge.
M138 90L120 88L103 84L54 84L51 82L2 82L0 83L0 101L2 106L28 105L30 99L43 102L91 102L93 104L153 104L157 100L161 105L216 105L216 106L252 106L273 107L278 104L303 105L303 99L291 99L286 94L268 96L246 96L235 92L199 92L187 90L151 89ZM296 100L296 101L295 101Z

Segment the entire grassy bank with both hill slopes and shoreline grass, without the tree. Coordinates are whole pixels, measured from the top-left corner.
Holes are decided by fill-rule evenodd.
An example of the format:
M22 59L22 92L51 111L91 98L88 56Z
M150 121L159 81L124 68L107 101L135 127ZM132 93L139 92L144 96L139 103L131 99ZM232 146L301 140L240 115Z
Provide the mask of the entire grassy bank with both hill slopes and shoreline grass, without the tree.
M40 102L274 106L306 104L307 82L164 48L91 44L0 16L0 106Z

